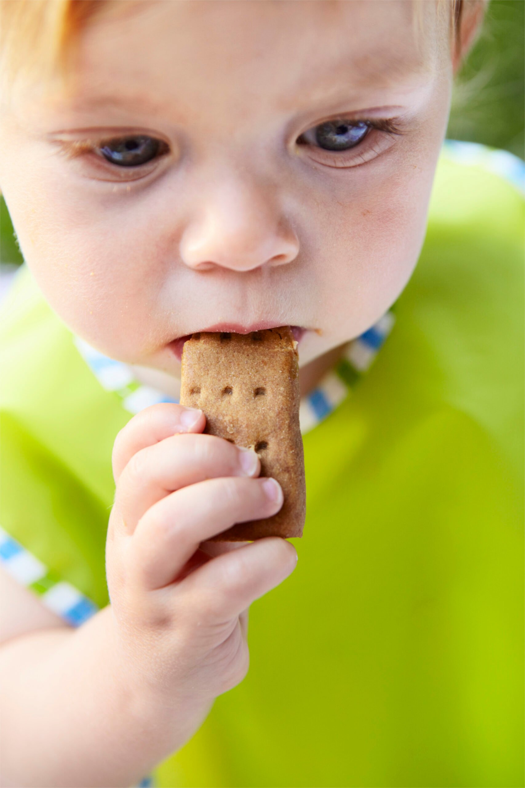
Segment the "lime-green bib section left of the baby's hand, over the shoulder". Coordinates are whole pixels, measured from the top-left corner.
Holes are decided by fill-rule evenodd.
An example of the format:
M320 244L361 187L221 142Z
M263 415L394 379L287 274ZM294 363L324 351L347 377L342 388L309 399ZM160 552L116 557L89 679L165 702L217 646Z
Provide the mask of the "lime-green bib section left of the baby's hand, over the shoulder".
M111 452L130 414L105 392L25 270L2 307L1 522L99 607Z

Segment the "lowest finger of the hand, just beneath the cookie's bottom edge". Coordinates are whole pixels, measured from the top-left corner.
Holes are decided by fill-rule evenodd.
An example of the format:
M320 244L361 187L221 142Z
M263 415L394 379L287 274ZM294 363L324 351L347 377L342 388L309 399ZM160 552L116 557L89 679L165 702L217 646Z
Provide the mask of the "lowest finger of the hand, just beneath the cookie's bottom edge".
M242 615L250 604L283 582L297 566L290 542L265 537L224 553L189 574L177 587L189 615L222 623ZM246 620L247 624L247 620Z

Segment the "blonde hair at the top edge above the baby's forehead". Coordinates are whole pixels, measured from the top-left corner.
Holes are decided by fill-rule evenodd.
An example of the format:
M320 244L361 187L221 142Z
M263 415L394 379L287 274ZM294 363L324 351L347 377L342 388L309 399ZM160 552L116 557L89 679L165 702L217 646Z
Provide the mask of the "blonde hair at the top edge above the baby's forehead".
M0 84L13 90L18 79L36 80L42 86L59 80L68 84L72 58L80 32L102 15L112 16L128 6L142 6L141 0L0 0ZM146 0L147 2L147 0ZM415 24L421 22L422 3L416 0ZM436 0L438 11L447 6L449 28L459 41L461 17L465 6L485 4L487 0Z

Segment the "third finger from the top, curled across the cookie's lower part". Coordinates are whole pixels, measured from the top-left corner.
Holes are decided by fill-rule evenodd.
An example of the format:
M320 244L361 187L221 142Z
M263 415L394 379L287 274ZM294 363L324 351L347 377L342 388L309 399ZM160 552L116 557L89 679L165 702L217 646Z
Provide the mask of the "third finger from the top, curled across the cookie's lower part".
M271 517L282 505L283 490L270 478L208 479L172 492L146 511L130 539L131 575L142 589L164 588L177 578L201 541L235 522Z

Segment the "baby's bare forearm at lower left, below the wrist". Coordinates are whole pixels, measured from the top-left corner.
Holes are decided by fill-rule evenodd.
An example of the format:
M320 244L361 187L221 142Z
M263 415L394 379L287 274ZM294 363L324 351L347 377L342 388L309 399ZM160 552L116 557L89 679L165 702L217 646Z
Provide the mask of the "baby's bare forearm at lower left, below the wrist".
M2 786L128 788L197 730L211 702L153 701L117 653L109 606L2 646Z

